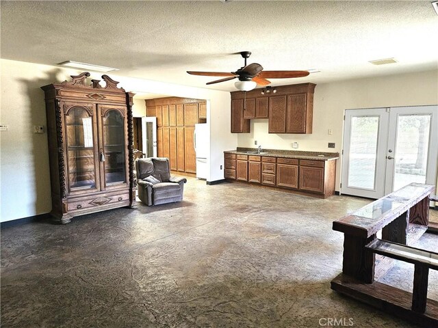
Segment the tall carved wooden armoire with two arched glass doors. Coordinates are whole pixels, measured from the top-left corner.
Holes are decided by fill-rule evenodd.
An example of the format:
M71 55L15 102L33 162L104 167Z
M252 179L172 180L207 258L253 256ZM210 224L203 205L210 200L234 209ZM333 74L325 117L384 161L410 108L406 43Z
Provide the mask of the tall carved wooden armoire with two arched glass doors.
M60 223L101 210L131 206L133 94L90 73L44 90L51 174L51 215Z

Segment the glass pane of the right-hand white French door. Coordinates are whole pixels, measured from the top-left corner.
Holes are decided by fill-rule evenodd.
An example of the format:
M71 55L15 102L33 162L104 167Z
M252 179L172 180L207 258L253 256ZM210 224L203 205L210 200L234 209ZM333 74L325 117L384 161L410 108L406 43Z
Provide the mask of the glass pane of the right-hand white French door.
M398 116L394 190L411 182L426 183L430 116Z

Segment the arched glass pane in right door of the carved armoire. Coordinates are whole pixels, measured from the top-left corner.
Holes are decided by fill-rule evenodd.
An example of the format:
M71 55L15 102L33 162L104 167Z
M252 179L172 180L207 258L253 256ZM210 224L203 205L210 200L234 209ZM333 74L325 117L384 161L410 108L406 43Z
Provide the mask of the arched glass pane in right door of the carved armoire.
M103 116L105 184L126 182L125 118L116 109Z

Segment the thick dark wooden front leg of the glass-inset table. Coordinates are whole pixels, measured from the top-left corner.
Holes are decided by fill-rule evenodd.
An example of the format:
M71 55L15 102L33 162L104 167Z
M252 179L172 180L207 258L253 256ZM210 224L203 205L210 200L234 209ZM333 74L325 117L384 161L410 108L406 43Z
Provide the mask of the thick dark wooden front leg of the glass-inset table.
M367 284L374 282L375 254L365 249L365 245L375 238L375 234L370 236L370 238L344 234L343 273Z

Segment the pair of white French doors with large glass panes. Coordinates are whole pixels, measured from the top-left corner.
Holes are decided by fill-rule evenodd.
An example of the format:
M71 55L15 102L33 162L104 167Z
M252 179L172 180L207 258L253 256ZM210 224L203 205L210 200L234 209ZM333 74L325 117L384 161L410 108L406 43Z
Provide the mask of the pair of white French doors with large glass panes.
M348 109L341 192L380 198L411 182L436 184L438 107Z

